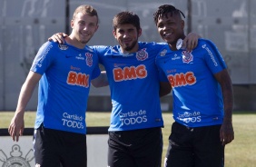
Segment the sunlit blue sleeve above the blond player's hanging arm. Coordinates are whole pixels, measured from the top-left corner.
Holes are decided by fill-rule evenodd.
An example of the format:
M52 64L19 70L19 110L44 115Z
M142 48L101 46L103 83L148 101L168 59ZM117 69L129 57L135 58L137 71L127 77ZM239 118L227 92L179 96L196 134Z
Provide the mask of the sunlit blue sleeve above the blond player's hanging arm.
M47 68L53 63L54 54L56 54L54 49L54 43L44 43L40 47L38 53L35 55L30 71L38 74L44 74Z

